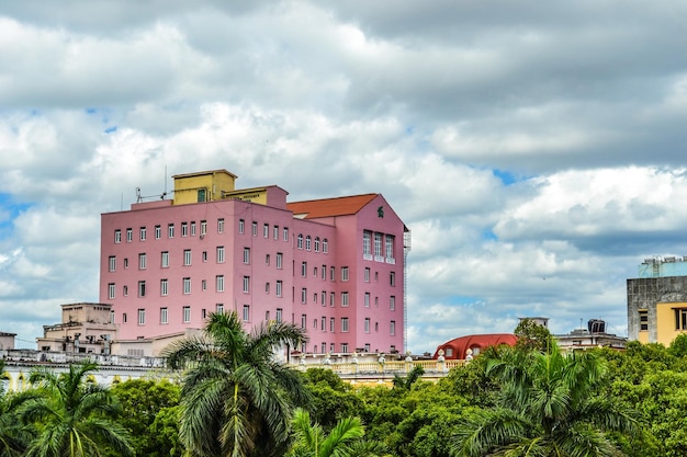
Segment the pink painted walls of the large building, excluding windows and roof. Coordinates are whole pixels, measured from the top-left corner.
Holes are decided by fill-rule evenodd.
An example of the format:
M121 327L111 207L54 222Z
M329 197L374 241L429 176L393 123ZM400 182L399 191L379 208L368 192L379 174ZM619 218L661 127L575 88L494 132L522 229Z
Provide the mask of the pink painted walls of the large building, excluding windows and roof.
M285 193L283 194L285 197ZM157 205L156 205L157 206ZM280 205L281 206L281 205ZM384 207L384 217L378 217L378 207ZM217 232L217 219L224 218L224 232ZM244 233L238 232L244 220ZM201 237L201 221L207 224ZM256 221L257 236L252 235ZM182 237L182 222L189 233ZM195 235L191 235L195 222ZM168 237L168 225L174 225L174 237ZM268 225L268 236L263 226ZM155 226L161 226L161 237L156 239ZM273 230L278 227L278 239ZM146 228L146 240L139 238L140 227ZM283 228L289 229L289 240L283 239ZM132 229L133 239L126 240ZM122 231L121 243L114 243L114 231ZM363 260L362 230L391 233L395 237L395 264L384 261ZM303 249L297 249L297 236L304 237ZM306 237L311 249L306 249ZM201 328L203 316L215 311L216 304L225 310L236 309L243 317L244 306L249 307L247 329L266 318L275 319L282 309L282 320L301 324L306 316L311 338L307 352L341 352L342 344L352 352L369 345L371 351L387 352L393 345L403 350L403 222L391 210L382 196L374 198L358 215L327 218L326 220L294 219L285 209L239 201L221 201L191 205L140 208L135 212L102 215L101 227L101 281L100 301L113 305L115 322L120 324L120 340L156 336ZM319 252L315 239L319 238ZM327 239L328 252L323 252ZM373 241L372 241L373 243ZM217 247L224 247L225 262L217 263ZM250 262L244 263L244 249L250 250ZM372 249L374 247L372 245ZM183 265L184 250L191 251L191 265ZM170 265L162 269L161 252L169 252ZM203 252L206 261L203 261ZM147 265L139 270L138 254L145 253ZM277 255L282 254L282 269L277 267ZM116 270L109 271L109 258L116 259ZM124 259L128 267L124 267ZM306 262L306 277L302 277L302 263ZM322 277L323 265L326 278ZM335 267L334 281L330 267ZM349 281L341 281L341 267L348 266ZM370 282L364 282L364 267L370 267ZM390 274L395 273L395 286L390 285ZM216 290L216 275L224 275L224 292ZM250 279L249 293L243 292L244 276ZM183 278L191 279L191 293L183 293ZM375 281L375 277L378 278ZM160 279L168 279L168 294L160 295ZM146 296L138 297L138 282L145 281ZM205 289L202 282L205 282ZM282 296L277 296L277 282L282 282ZM115 284L115 297L109 298L109 284ZM269 284L269 289L266 285ZM124 296L124 286L128 294ZM301 300L306 289L305 304ZM322 294L325 293L325 304ZM341 293L348 292L349 306L341 306ZM330 294L335 305L330 306ZM364 307L364 294L370 294L370 307ZM315 297L316 295L316 297ZM390 309L390 297L395 296L395 310ZM375 298L378 305L375 306ZM324 306L323 306L324 305ZM160 308L167 308L168 321L160 322ZM183 307L190 307L190 322L183 322ZM145 324L138 324L138 309L145 309ZM269 316L268 316L269 313ZM126 315L126 322L123 316ZM323 318L325 328L322 328ZM335 331L330 319L335 318ZM341 318L349 319L349 332L341 332ZM370 319L370 332L363 330L364 319ZM390 321L395 321L395 334L390 334ZM375 323L378 327L375 329Z

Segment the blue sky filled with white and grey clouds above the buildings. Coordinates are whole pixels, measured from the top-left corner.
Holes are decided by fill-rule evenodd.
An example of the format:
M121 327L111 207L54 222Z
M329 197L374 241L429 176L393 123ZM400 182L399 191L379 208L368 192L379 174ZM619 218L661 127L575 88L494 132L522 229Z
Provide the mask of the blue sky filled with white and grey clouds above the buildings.
M601 318L687 254L687 2L23 1L0 9L0 331L98 300L100 214L227 169L379 192L408 349ZM167 170L167 174L166 174Z

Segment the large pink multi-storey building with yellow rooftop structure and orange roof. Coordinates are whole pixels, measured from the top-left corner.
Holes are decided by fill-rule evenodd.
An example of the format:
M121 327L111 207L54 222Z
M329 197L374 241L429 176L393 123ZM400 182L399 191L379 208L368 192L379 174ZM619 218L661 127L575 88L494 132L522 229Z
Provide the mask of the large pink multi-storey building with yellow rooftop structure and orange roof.
M119 341L234 310L247 329L306 328L307 353L404 350L409 232L382 195L286 203L275 185L235 190L226 170L173 178L173 199L102 215L100 301Z

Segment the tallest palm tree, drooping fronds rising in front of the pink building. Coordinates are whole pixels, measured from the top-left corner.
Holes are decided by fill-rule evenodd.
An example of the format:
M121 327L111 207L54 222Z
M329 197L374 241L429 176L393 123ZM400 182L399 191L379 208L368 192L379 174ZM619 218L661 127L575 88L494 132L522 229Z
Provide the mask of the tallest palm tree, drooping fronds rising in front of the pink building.
M236 312L211 313L204 338L172 344L172 368L189 367L181 390L180 438L192 456L281 455L294 404L308 400L299 373L275 359L305 330L266 322L247 333Z

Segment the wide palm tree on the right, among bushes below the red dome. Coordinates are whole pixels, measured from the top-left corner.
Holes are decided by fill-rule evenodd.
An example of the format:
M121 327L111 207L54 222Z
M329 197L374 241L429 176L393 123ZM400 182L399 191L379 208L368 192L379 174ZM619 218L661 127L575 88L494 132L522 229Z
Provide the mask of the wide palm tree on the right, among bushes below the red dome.
M633 432L634 412L598 395L606 369L596 354L499 349L487 376L500 386L497 404L458 426L452 456L622 455L606 432Z

